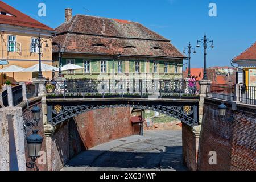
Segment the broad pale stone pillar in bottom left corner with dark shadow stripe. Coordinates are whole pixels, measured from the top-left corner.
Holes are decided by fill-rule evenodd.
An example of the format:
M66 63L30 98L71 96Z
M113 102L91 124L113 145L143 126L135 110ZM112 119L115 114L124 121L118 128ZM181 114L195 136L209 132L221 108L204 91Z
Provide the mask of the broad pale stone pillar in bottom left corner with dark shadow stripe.
M0 171L26 171L21 107L0 109Z

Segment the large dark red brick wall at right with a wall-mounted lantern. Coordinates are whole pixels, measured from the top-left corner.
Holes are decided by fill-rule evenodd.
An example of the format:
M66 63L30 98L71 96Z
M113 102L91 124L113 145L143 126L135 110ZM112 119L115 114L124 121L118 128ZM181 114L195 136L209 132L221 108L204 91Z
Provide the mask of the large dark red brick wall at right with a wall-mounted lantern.
M256 170L256 114L255 109L238 106L234 112L228 106L226 117L218 116L220 102L205 99L202 123L199 170ZM210 151L217 152L217 165L210 165Z

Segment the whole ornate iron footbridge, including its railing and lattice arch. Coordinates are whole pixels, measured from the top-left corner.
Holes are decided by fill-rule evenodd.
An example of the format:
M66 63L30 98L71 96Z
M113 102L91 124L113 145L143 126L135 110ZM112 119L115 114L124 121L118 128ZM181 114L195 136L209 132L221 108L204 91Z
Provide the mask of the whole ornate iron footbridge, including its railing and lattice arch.
M68 80L47 86L52 125L91 110L131 107L158 111L198 125L199 86L184 80Z

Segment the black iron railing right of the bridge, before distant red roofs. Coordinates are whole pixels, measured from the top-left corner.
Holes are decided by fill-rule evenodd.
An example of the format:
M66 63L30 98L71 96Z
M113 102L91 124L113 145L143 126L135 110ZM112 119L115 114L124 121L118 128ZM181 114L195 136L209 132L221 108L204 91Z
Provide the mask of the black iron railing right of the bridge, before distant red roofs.
M207 97L234 101L236 96L235 87L235 85L209 84L207 85Z

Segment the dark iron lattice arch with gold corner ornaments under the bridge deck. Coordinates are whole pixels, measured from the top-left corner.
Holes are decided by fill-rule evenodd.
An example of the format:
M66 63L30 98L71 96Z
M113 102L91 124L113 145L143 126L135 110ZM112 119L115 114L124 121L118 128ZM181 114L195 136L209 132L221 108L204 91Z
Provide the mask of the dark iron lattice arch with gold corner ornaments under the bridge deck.
M175 101L128 101L128 100L107 100L107 101L84 101L74 102L48 102L48 122L52 125L59 125L69 118L76 117L82 113L97 109L131 107L144 110L158 111L170 117L179 119L188 126L197 126L198 103L197 102L175 102Z

